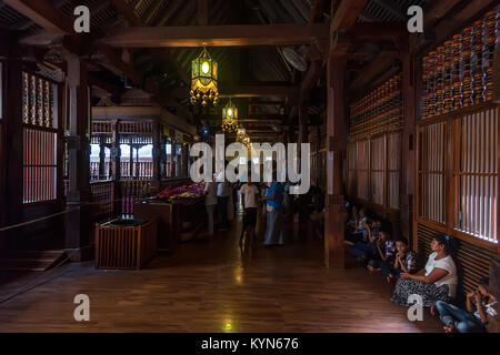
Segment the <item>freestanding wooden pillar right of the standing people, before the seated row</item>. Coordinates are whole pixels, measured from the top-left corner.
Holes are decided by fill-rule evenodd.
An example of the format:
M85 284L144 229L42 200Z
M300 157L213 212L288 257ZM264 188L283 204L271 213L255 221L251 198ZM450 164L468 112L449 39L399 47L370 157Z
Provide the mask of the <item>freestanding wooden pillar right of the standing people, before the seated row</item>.
M347 149L344 73L346 58L330 57L327 64L327 204L324 263L344 267L342 169Z

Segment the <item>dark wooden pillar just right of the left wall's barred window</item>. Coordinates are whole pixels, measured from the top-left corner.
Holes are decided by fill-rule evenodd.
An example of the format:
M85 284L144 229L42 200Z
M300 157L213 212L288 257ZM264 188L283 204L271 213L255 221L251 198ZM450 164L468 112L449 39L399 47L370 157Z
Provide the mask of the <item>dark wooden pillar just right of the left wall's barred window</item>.
M69 55L69 192L67 204L71 210L66 215L66 248L72 252L72 260L91 257L90 241L90 142L89 121L91 116L90 90L86 62L77 55Z

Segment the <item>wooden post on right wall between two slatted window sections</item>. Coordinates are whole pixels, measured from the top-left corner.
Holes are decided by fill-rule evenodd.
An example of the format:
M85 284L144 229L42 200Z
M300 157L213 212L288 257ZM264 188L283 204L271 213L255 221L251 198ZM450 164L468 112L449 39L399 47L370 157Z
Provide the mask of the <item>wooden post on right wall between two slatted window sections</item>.
M400 184L400 213L401 233L410 241L413 237L413 191L416 176L416 116L417 102L417 61L414 55L407 51L402 55L402 94L404 123L401 135L401 184Z

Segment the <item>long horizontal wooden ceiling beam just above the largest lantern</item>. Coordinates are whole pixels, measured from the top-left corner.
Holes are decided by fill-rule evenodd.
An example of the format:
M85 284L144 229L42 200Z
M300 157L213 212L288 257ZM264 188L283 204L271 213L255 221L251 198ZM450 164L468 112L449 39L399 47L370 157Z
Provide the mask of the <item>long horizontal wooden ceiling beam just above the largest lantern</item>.
M243 24L197 27L142 27L109 31L99 43L122 48L249 47L310 44L328 39L327 24Z

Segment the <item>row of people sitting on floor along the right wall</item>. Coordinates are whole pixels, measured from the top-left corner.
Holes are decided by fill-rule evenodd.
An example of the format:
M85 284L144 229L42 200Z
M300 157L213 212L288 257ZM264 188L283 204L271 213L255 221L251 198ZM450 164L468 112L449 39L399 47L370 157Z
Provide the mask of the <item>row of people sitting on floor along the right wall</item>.
M422 306L439 315L446 332L486 332L487 324L497 316L497 300L488 291L488 280L467 295L466 310L457 303L458 273L454 260L454 241L444 234L433 236L432 253L426 266L418 271L417 254L408 241L393 241L387 224L374 216L369 217L364 207L352 206L346 231L350 253L370 272L380 271L388 283L396 281L391 301L402 305L414 304L413 295L421 297Z

